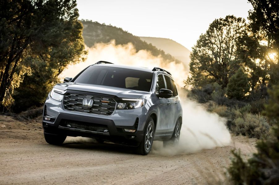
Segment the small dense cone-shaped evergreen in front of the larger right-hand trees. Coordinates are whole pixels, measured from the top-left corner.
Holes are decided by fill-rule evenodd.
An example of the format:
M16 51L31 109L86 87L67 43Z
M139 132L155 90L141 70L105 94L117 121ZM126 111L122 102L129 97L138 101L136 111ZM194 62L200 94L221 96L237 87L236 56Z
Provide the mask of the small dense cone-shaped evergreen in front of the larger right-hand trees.
M245 97L250 89L247 74L244 73L242 68L232 75L227 85L227 92L229 98L241 100Z

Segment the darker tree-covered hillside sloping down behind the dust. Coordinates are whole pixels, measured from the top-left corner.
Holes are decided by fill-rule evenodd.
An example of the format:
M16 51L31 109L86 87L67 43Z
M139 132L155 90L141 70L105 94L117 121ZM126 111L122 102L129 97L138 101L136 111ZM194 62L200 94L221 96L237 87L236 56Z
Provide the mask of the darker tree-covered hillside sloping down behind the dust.
M149 50L154 56L161 55L165 60L180 62L170 54L165 54L163 50L157 49L157 47L144 42L139 37L122 30L122 28L84 20L82 20L82 24L84 26L84 43L88 47L92 47L99 42L107 43L114 39L116 45L131 42L137 51Z

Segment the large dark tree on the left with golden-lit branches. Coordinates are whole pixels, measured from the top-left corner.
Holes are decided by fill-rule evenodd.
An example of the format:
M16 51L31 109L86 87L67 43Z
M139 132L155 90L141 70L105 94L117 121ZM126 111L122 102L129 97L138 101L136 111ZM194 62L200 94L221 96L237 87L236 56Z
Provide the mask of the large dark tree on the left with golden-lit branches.
M8 106L19 82L42 70L34 63L57 77L86 52L75 0L3 0L0 6L0 102Z

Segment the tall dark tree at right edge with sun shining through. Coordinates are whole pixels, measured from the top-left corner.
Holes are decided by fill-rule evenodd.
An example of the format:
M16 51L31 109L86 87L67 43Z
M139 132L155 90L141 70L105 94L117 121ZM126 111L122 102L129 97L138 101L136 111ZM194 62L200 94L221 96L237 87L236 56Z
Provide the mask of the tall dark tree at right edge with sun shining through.
M247 65L252 92L266 91L279 83L279 1L249 2L253 10L249 11L247 33L238 39L238 54Z

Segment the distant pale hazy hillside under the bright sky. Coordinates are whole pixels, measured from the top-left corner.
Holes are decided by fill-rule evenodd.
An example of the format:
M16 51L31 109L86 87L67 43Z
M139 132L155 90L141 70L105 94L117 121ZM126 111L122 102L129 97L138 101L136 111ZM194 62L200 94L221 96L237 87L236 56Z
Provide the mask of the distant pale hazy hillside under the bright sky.
M166 53L171 54L186 65L190 62L191 51L174 40L157 37L140 37L140 39L156 46L160 50L164 50Z

